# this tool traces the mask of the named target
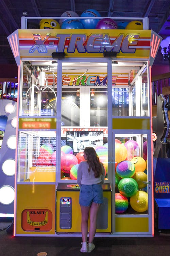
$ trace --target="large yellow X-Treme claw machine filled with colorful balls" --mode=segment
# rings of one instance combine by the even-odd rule
[[[69,18],[50,30],[27,29],[27,19],[8,37],[20,84],[14,235],[81,236],[77,168],[92,146],[105,167],[97,235],[153,236],[151,66],[161,38],[147,18],[120,29]]]

